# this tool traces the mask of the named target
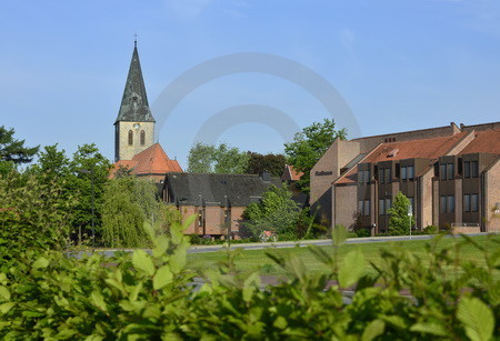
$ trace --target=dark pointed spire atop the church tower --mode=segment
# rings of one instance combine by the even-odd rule
[[[146,94],[137,43],[133,48],[132,60],[130,61],[120,111],[114,123],[119,121],[154,122],[154,118],[149,109],[148,96]]]

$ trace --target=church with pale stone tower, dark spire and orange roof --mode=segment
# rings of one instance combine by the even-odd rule
[[[157,182],[162,182],[168,172],[182,172],[179,162],[170,160],[160,143],[154,142],[154,124],[134,41],[129,74],[114,121],[114,169],[111,177],[121,167]]]

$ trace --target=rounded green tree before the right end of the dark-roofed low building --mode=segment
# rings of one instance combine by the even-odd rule
[[[253,237],[264,230],[294,234],[300,210],[291,198],[292,193],[287,187],[271,185],[259,202],[251,203],[244,210],[246,228]]]

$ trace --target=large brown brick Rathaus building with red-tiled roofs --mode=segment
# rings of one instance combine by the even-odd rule
[[[388,229],[401,191],[416,227],[500,231],[500,122],[337,140],[311,170],[313,211],[332,225]]]

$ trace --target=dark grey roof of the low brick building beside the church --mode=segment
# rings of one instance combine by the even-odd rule
[[[173,195],[171,201],[180,205],[248,207],[271,184],[280,187],[280,179],[263,181],[257,174],[168,173],[164,180],[164,188]]]

